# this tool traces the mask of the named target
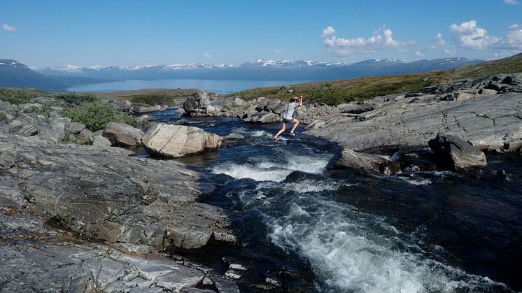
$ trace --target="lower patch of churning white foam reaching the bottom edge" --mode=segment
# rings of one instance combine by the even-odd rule
[[[389,235],[400,233],[395,227],[325,199],[292,203],[286,215],[267,224],[271,242],[309,259],[332,292],[453,292],[503,286],[425,258],[421,251],[399,250],[396,247],[416,245],[399,245],[404,244],[400,238]],[[376,229],[379,226],[384,229]]]

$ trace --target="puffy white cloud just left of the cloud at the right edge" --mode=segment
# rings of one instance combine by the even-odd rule
[[[475,20],[451,24],[450,29],[456,45],[462,48],[486,50],[502,41],[502,38],[488,36],[488,31],[482,27],[477,27]]]

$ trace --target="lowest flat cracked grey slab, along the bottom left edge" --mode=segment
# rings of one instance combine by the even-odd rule
[[[201,285],[208,275],[163,255],[41,241],[0,245],[0,271],[3,292],[179,292]]]

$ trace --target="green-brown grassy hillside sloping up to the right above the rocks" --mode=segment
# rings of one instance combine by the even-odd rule
[[[291,94],[287,93],[288,89],[286,88],[260,87],[234,94],[227,94],[225,97],[241,96],[244,99],[254,99],[257,97],[288,99],[289,97],[302,94],[309,101],[337,104],[346,101],[371,99],[386,94],[420,90],[430,85],[449,83],[465,78],[481,78],[515,72],[522,72],[522,53],[505,59],[442,71],[301,83],[290,87],[294,90]]]

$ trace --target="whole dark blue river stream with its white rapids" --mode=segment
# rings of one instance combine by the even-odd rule
[[[153,115],[178,119],[174,111]],[[519,156],[488,155],[487,169],[465,175],[360,176],[327,169],[338,152],[332,143],[304,135],[271,143],[278,125],[186,124],[249,141],[183,159],[216,184],[206,202],[229,211],[243,243],[199,261],[223,272],[222,257],[250,266],[243,291],[266,278],[282,291],[522,290]],[[493,175],[499,169],[507,179]]]

